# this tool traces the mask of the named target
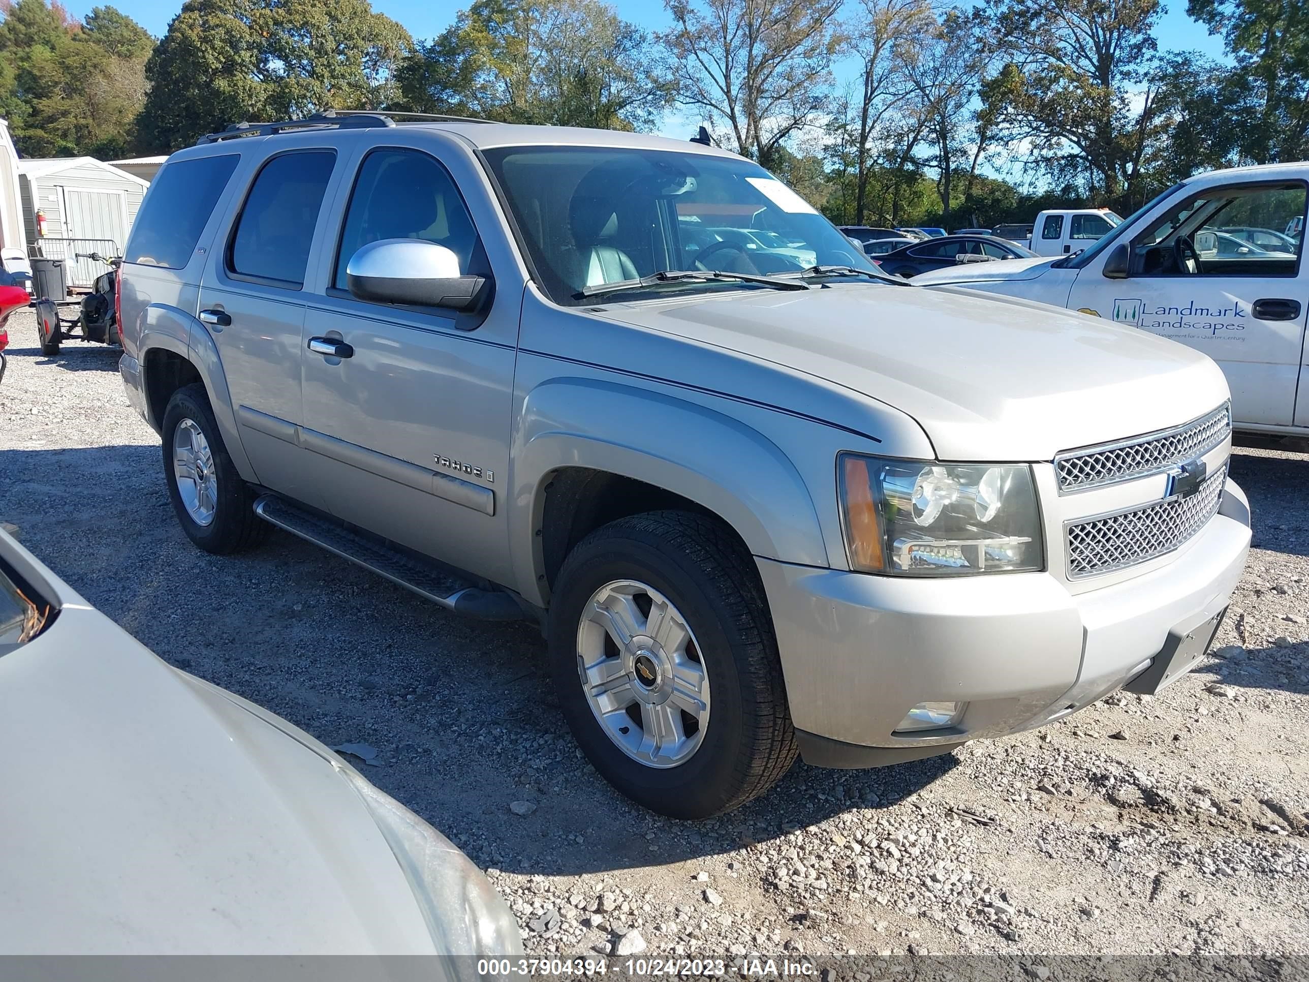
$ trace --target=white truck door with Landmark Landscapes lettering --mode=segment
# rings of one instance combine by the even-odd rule
[[[1291,426],[1301,374],[1309,271],[1225,227],[1282,229],[1304,215],[1299,182],[1234,182],[1186,195],[1131,240],[1127,279],[1081,270],[1068,306],[1178,340],[1223,368],[1237,424]]]

